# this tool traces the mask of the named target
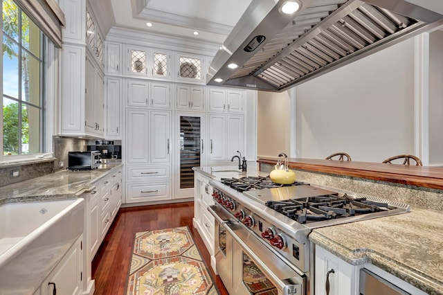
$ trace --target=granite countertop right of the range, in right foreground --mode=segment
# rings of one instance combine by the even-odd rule
[[[309,240],[351,265],[369,262],[428,294],[443,294],[443,213],[410,213],[314,229]]]

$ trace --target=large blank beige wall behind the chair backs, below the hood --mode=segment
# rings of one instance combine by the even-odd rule
[[[296,87],[297,157],[413,154],[413,61],[408,39]]]

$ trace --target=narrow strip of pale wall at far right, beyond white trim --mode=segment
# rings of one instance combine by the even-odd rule
[[[429,165],[443,166],[443,32],[429,35]]]

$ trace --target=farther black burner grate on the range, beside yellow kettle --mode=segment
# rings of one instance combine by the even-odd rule
[[[305,184],[301,181],[296,181],[293,184],[275,184],[269,177],[242,177],[242,178],[221,178],[222,184],[230,186],[231,188],[244,192],[246,190],[261,190],[262,188],[280,188],[282,186],[300,186]]]

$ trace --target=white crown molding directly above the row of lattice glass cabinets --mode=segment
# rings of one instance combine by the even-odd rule
[[[183,39],[152,33],[145,33],[126,28],[111,28],[106,36],[108,42],[118,42],[122,44],[134,44],[136,46],[146,46],[149,48],[159,48],[170,51],[184,51],[197,55],[214,56],[219,50],[220,44],[201,42],[195,39]]]

